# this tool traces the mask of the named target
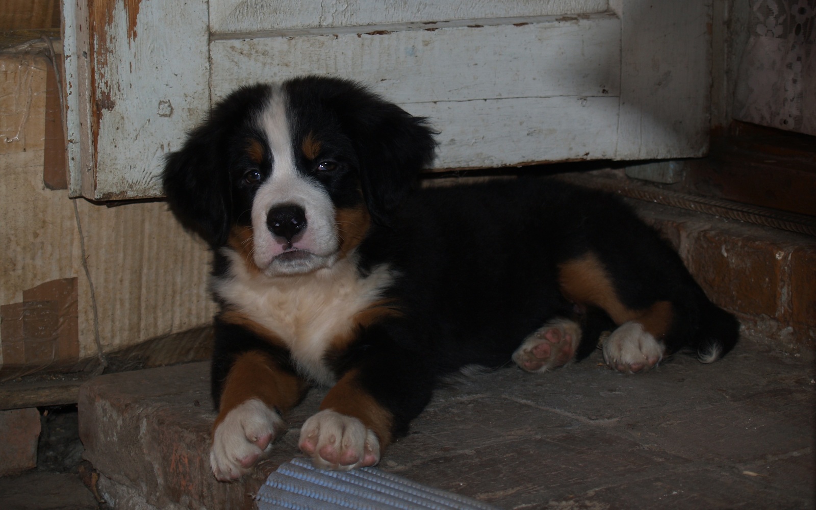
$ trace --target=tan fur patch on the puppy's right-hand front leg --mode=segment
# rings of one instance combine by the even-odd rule
[[[379,447],[384,450],[391,443],[393,416],[390,411],[380,406],[374,397],[362,389],[357,381],[359,370],[349,370],[334,388],[331,388],[323,399],[321,410],[334,410],[342,415],[359,419],[366,428],[373,430],[379,437]]]

